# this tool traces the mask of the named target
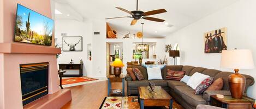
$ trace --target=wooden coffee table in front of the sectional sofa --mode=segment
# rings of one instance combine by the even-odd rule
[[[150,87],[138,87],[141,109],[144,109],[144,106],[169,106],[172,108],[172,97],[161,86],[156,86],[154,92],[148,88]]]

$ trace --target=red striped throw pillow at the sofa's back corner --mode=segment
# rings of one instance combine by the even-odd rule
[[[174,71],[174,70],[167,69],[167,74],[165,76],[165,79],[180,81],[184,75],[185,75],[185,71]]]

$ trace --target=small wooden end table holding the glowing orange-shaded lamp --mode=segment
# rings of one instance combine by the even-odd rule
[[[124,75],[120,75],[119,77],[116,77],[115,75],[108,75],[108,96],[111,97],[124,97]],[[111,88],[111,83],[112,82],[122,82],[122,92],[121,93],[113,93],[112,91],[114,91],[115,89]]]

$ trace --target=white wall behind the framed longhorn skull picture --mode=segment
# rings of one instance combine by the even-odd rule
[[[84,61],[83,75],[92,75],[92,62],[87,60],[87,44],[92,43],[92,22],[57,19],[55,27],[56,43],[58,44],[62,44],[61,33],[67,33],[67,36],[82,36],[82,52],[62,52],[57,62],[69,63],[73,59],[74,63],[79,63],[82,59]]]

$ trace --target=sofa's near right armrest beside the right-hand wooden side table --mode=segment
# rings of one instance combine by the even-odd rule
[[[216,94],[231,95],[230,91],[205,91],[203,94],[203,98],[206,101],[210,101],[210,96]]]

